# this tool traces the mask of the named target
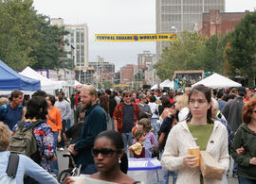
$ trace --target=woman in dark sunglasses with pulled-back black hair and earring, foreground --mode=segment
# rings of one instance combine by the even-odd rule
[[[91,150],[99,172],[91,176],[82,176],[85,183],[97,184],[134,184],[140,183],[127,176],[128,159],[124,152],[121,135],[114,131],[103,131],[97,136]],[[75,177],[68,177],[65,184],[74,182]]]

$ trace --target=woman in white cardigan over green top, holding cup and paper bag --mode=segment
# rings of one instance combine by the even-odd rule
[[[225,169],[229,168],[228,131],[225,125],[211,119],[211,92],[204,85],[197,85],[189,95],[188,119],[174,125],[171,130],[161,164],[167,170],[179,170],[177,184],[219,184],[221,180],[203,178],[197,159],[188,154],[188,149],[199,146],[206,150]],[[203,182],[204,180],[204,182]]]

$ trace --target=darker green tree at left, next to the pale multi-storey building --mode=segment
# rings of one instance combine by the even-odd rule
[[[50,25],[49,18],[38,15],[39,24],[37,29],[40,35],[33,38],[38,44],[32,47],[30,58],[36,62],[31,66],[34,69],[58,69],[72,68],[72,59],[66,59],[67,52],[64,51],[64,36],[69,32],[64,27]]]

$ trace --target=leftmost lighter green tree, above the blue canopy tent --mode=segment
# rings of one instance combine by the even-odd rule
[[[0,59],[14,70],[22,70],[34,63],[28,54],[37,41],[36,11],[32,9],[32,0],[0,1]]]

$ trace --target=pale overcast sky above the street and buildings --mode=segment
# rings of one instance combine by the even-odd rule
[[[64,24],[87,24],[89,61],[100,55],[116,65],[137,64],[137,54],[151,51],[155,42],[95,42],[95,34],[155,33],[155,0],[34,0],[39,13],[64,18]],[[256,0],[226,0],[226,11],[253,11]]]

